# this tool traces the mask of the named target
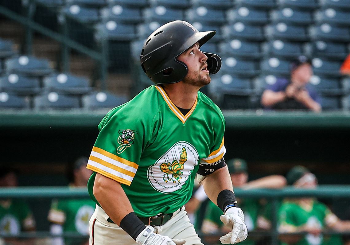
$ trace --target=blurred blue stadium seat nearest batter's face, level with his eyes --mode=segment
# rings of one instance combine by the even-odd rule
[[[219,45],[222,54],[229,54],[233,57],[241,58],[260,58],[262,56],[259,42],[248,42],[244,40],[233,39],[223,42]]]

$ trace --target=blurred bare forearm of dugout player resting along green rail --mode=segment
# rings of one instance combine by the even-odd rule
[[[250,181],[244,185],[244,189],[271,188],[278,189],[287,185],[287,180],[282,175],[270,175]]]

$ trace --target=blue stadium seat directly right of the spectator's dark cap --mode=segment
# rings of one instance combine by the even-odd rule
[[[312,66],[314,73],[320,76],[340,76],[340,66],[341,62],[339,61],[327,61],[321,58],[313,58]]]

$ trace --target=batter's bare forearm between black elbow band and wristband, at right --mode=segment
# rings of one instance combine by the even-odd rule
[[[216,170],[202,181],[205,193],[217,205],[218,194],[222,190],[233,192],[232,181],[227,166]]]

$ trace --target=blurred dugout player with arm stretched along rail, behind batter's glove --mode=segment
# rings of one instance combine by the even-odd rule
[[[248,172],[247,163],[243,159],[231,159],[227,163],[229,168],[229,173],[231,175],[231,180],[233,187],[242,189],[254,189],[254,188],[283,188],[286,186],[287,181],[285,177],[280,175],[270,175],[262,177],[257,180],[248,182]],[[201,192],[201,189],[198,189]],[[197,194],[198,195],[198,194]],[[196,199],[196,194],[193,199]],[[237,199],[238,206],[244,208],[245,215],[244,221],[247,225],[248,231],[252,231],[256,228],[260,229],[270,229],[271,224],[265,220],[259,218],[259,210],[261,209],[261,200],[251,199],[251,198],[239,198]],[[203,214],[199,214],[203,215]],[[204,212],[203,224],[201,231],[204,234],[213,233],[225,233],[227,228],[220,221],[220,216],[222,215],[222,210],[219,209],[211,201],[208,202],[207,207]],[[198,229],[198,228],[197,228]],[[255,244],[254,241],[249,238],[241,242],[242,244]]]

